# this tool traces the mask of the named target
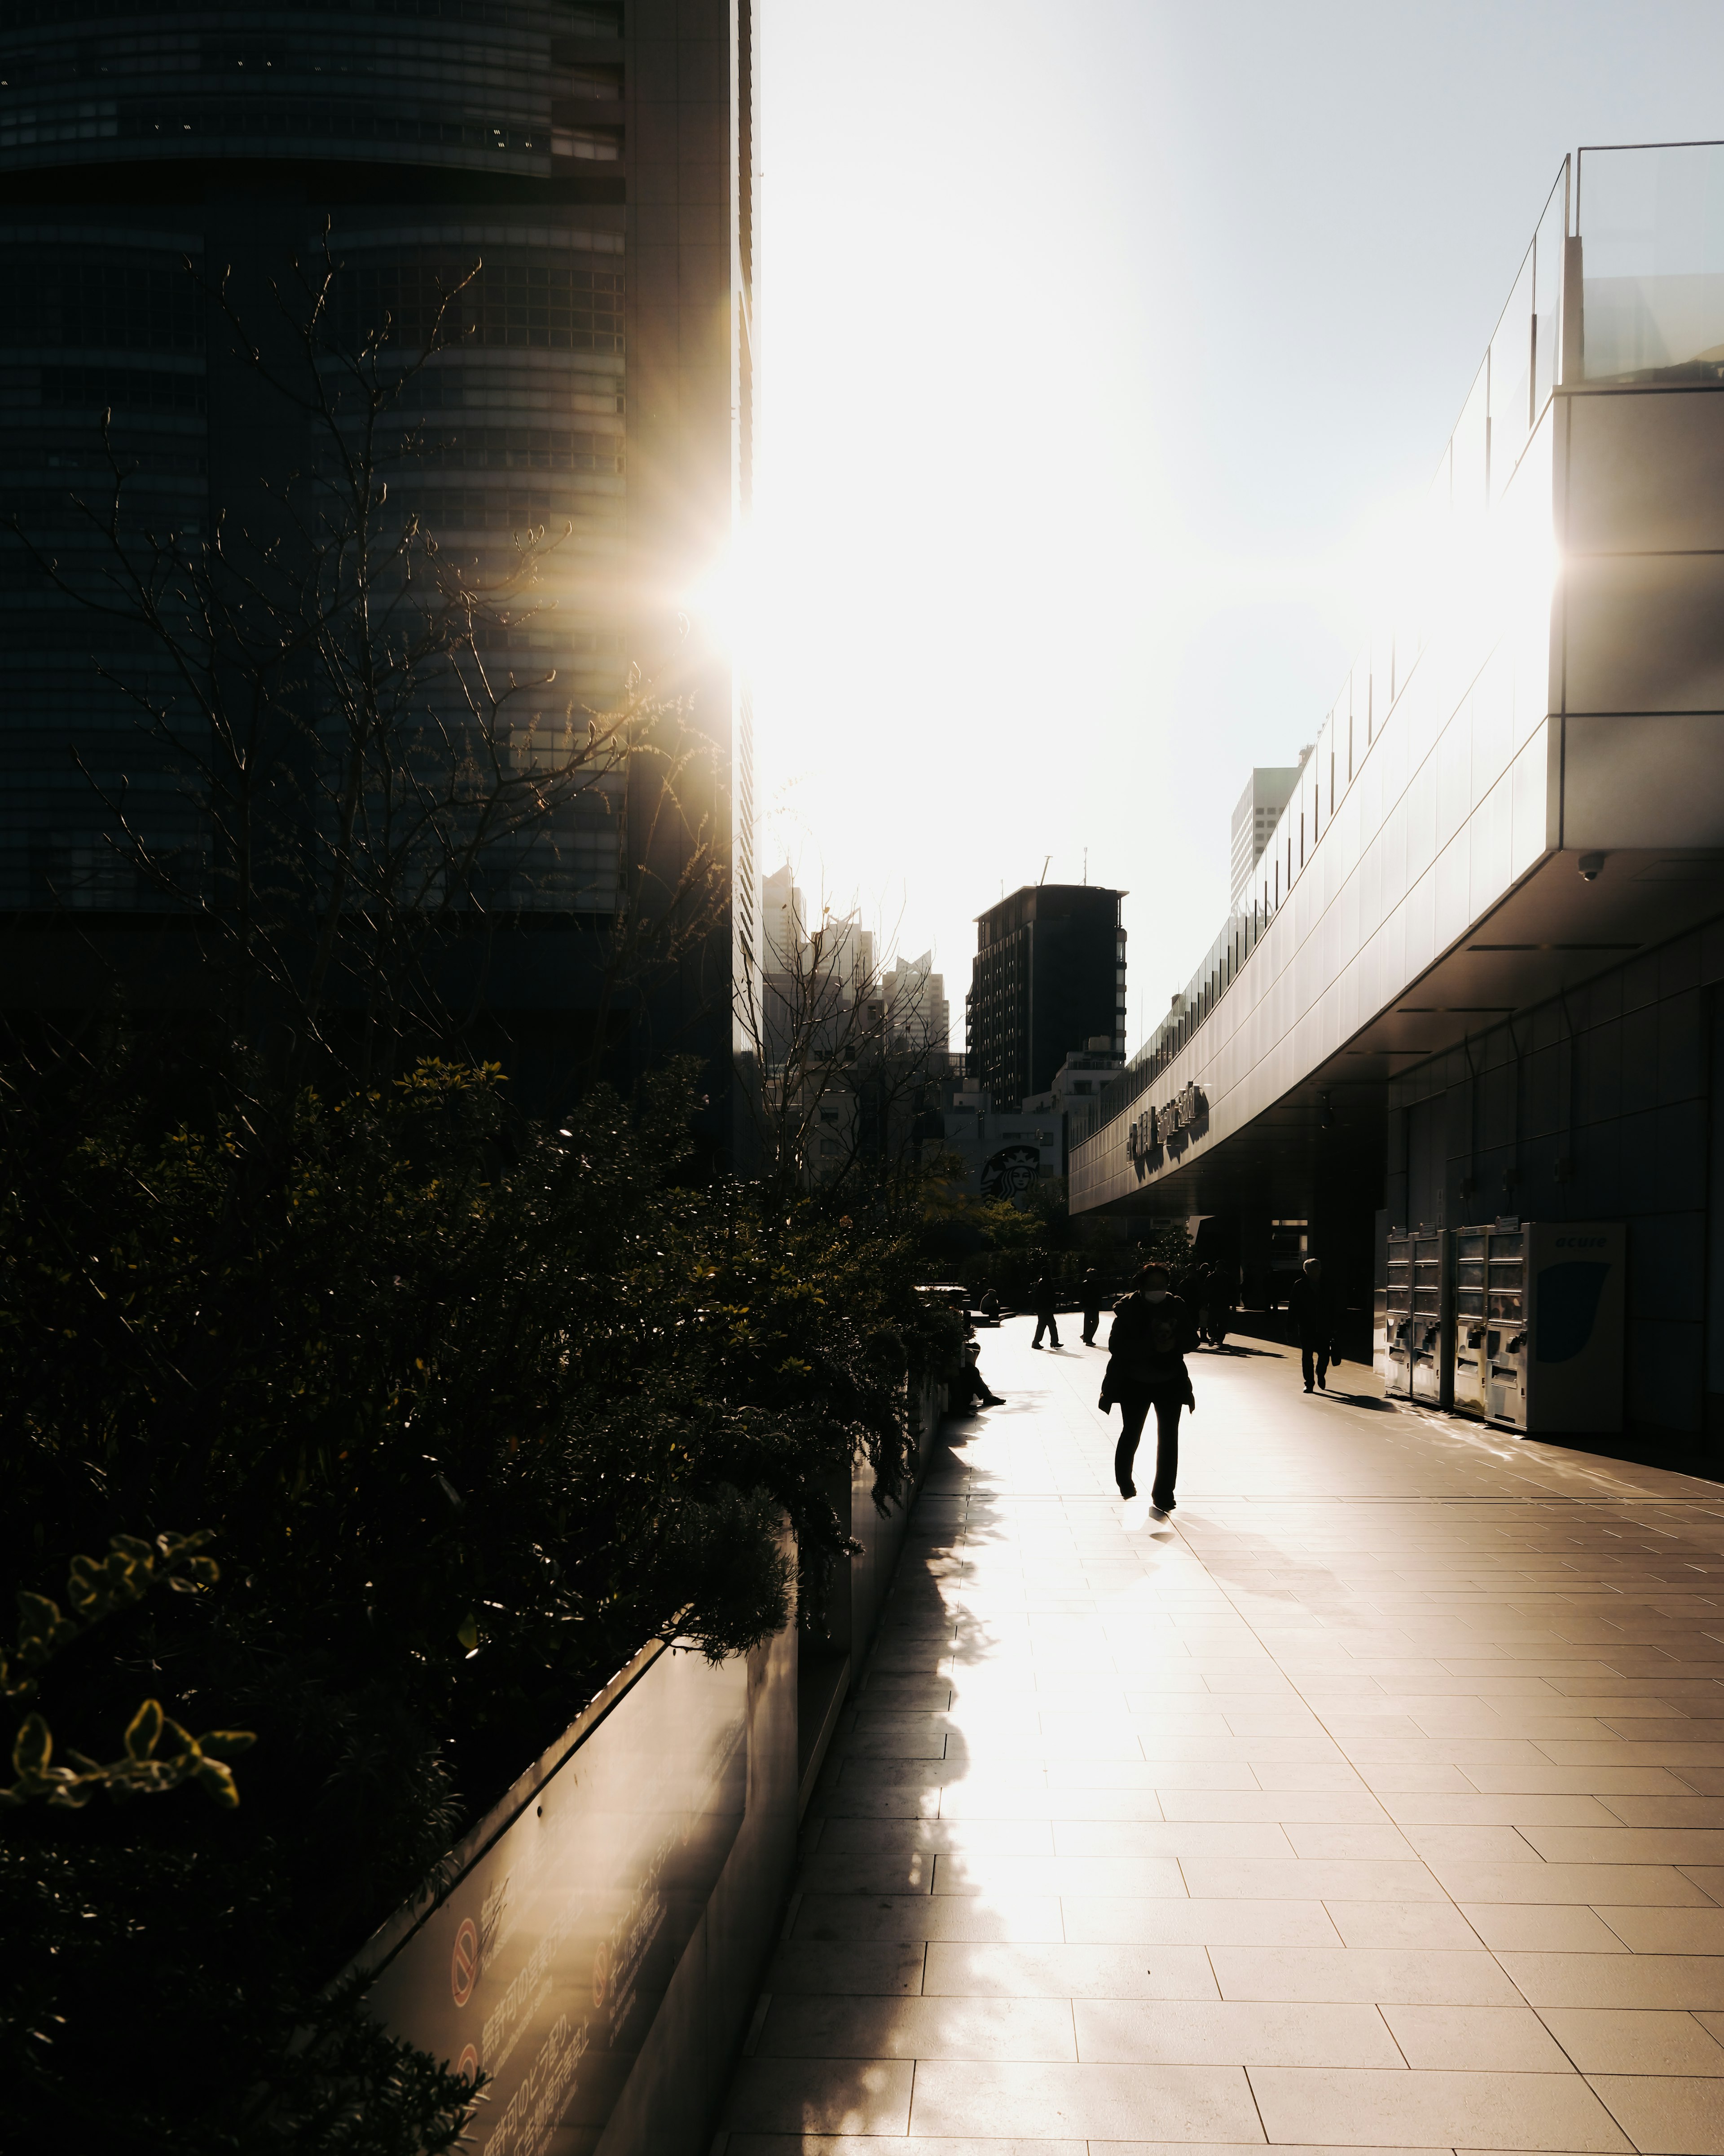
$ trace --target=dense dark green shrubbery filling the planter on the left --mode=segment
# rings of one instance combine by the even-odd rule
[[[187,1772],[0,1815],[19,2132],[453,2145],[465,2085],[330,1975],[646,1639],[776,1632],[782,1522],[840,1552],[858,1447],[903,1490],[905,1363],[953,1352],[914,1240],[683,1181],[687,1087],[552,1130],[442,1063],[332,1100],[209,1044],[11,1069],[4,1585],[69,1608],[75,1559],[194,1531],[220,1574],[15,1705],[56,1757],[256,1740],[233,1807]]]

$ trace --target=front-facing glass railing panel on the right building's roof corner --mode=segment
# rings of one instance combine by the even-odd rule
[[[1584,149],[1586,382],[1724,382],[1724,142]]]

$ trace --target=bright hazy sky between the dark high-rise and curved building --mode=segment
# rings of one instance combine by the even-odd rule
[[[1129,1046],[1368,640],[1562,157],[1724,136],[1718,0],[769,0],[761,869],[946,975],[1129,893]]]

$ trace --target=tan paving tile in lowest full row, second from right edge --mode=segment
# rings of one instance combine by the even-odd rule
[[[1580,2074],[1259,2065],[1250,2078],[1269,2141],[1455,2150],[1631,2145]]]

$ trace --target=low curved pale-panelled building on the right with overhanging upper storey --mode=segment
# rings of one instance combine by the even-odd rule
[[[1073,1210],[1627,1225],[1627,1425],[1724,1436],[1724,144],[1565,162],[1416,565]],[[1504,1341],[1506,1348],[1506,1341]]]

